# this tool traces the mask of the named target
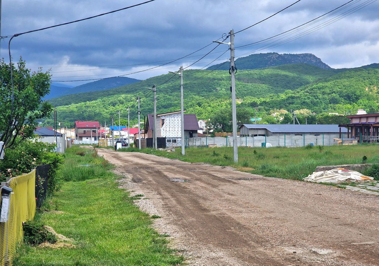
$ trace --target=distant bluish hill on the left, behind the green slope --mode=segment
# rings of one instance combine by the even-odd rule
[[[117,78],[108,78],[100,79],[98,81],[89,82],[86,84],[79,85],[77,87],[63,87],[56,86],[55,84],[50,85],[50,93],[47,95],[44,100],[49,100],[52,98],[69,95],[73,93],[83,93],[83,92],[95,92],[99,90],[107,90],[127,84],[132,84],[140,81],[139,79],[127,78],[127,77],[117,77]]]

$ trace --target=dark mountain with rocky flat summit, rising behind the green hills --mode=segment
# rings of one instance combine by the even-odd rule
[[[329,65],[325,64],[321,59],[314,54],[278,54],[278,53],[261,53],[251,54],[246,57],[241,57],[235,60],[235,65],[238,70],[242,69],[258,69],[266,67],[275,67],[277,65],[286,64],[309,64],[323,69],[330,69]],[[207,70],[229,70],[229,64],[217,64],[207,68]]]

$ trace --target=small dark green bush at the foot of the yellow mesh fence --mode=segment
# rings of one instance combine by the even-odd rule
[[[56,243],[58,238],[49,232],[46,227],[37,221],[27,221],[22,224],[24,242],[30,245],[39,245],[45,242]]]

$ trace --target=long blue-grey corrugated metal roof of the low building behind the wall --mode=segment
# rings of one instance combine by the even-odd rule
[[[294,125],[294,124],[241,124],[249,129],[267,129],[273,133],[339,133],[338,125]],[[341,128],[341,132],[348,132],[347,128]]]

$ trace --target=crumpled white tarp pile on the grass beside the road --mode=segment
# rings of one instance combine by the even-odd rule
[[[325,182],[325,183],[342,183],[342,182],[359,182],[364,180],[374,180],[373,177],[365,176],[357,171],[350,171],[343,168],[336,168],[327,171],[313,172],[305,181]]]

